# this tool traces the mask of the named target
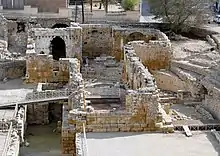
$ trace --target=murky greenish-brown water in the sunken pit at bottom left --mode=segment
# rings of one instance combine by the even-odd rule
[[[21,147],[20,156],[60,156],[60,133],[56,124],[28,126],[26,139],[30,145]]]

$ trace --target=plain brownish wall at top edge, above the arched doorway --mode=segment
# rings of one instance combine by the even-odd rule
[[[59,8],[66,8],[67,0],[26,0],[25,5],[38,7],[39,12],[58,12]]]

